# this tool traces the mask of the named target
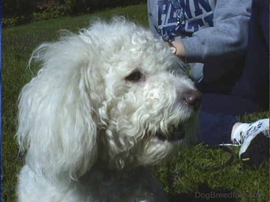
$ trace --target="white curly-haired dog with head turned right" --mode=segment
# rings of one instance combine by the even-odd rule
[[[145,28],[114,18],[40,45],[19,98],[19,202],[164,202],[153,165],[192,141],[201,93]],[[185,138],[184,138],[185,137]]]

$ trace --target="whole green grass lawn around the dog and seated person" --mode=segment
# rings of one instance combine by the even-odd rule
[[[18,155],[14,135],[19,92],[37,72],[35,67],[31,68],[33,74],[27,68],[32,50],[42,42],[57,40],[60,29],[76,32],[87,26],[93,18],[109,19],[115,15],[123,15],[145,27],[148,26],[147,7],[143,4],[79,17],[34,22],[2,30],[1,192],[3,202],[15,201],[17,173],[23,164],[23,157]],[[249,122],[268,116],[269,112],[262,112],[247,114],[240,119]],[[165,192],[175,196],[175,201],[181,199],[185,202],[192,200],[269,201],[269,166],[246,168],[238,159],[239,147],[232,147],[232,150],[234,160],[230,165],[218,171],[204,172],[198,167],[221,165],[230,158],[230,155],[223,150],[207,150],[203,145],[187,147],[170,162],[158,166],[156,174],[162,181]],[[214,193],[221,195],[215,195],[215,199],[208,200],[207,193],[212,193],[212,196]],[[232,193],[234,198],[229,195]]]

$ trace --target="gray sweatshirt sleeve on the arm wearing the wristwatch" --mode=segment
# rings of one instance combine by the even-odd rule
[[[188,63],[224,61],[245,54],[251,0],[216,0],[213,27],[181,39]]]

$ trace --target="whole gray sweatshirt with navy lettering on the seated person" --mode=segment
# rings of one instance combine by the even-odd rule
[[[251,1],[147,0],[149,27],[165,41],[182,41],[191,78],[199,82],[204,64],[216,63],[211,71],[218,77],[232,68],[226,61],[245,55]]]

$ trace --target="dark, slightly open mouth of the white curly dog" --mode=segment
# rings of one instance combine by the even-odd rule
[[[158,139],[162,141],[169,141],[169,142],[175,142],[184,139],[185,137],[185,131],[182,125],[178,125],[178,127],[171,127],[169,130],[169,135],[163,134],[161,131],[156,133],[156,136]]]

